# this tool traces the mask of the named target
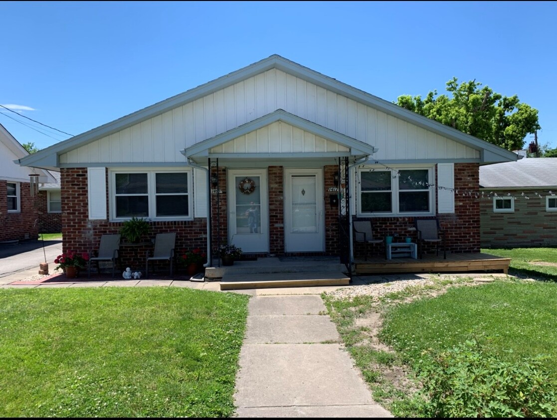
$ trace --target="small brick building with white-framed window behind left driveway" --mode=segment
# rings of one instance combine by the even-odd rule
[[[43,183],[39,187],[38,219],[42,233],[62,232],[62,193],[60,172],[51,172],[55,182]]]

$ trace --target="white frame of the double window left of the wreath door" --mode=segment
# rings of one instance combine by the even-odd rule
[[[157,173],[187,173],[188,174],[188,216],[187,217],[157,217],[157,196],[164,194],[156,194],[155,191],[155,174]],[[118,173],[146,173],[147,174],[147,196],[149,197],[149,216],[146,219],[152,221],[187,221],[193,220],[193,171],[191,168],[118,168],[109,170],[109,208],[110,208],[110,221],[123,222],[129,220],[130,217],[116,217],[116,174]],[[140,194],[131,194],[140,195]],[[172,194],[179,195],[179,194]]]

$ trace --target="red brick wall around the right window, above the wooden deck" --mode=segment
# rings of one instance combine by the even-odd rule
[[[480,252],[479,166],[477,163],[455,163],[455,213],[438,214],[444,231],[446,248],[453,253]],[[466,193],[466,194],[465,194]],[[437,194],[436,194],[437,197]],[[437,203],[436,203],[437,207]],[[366,219],[366,218],[360,218]],[[417,241],[414,217],[374,217],[375,234],[384,238],[388,233],[411,237]],[[433,248],[424,248],[431,252]]]

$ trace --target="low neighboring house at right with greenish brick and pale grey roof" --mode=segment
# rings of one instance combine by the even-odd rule
[[[557,246],[557,158],[480,167],[482,248]]]

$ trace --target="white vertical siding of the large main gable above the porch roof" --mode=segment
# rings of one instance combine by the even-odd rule
[[[479,152],[277,69],[60,156],[68,163],[184,162],[180,150],[285,109],[379,148],[374,158],[471,159]],[[299,134],[292,133],[293,138]],[[247,147],[248,136],[246,136]],[[250,139],[253,141],[253,139]],[[281,143],[282,144],[282,143]],[[258,144],[259,147],[259,144]]]

